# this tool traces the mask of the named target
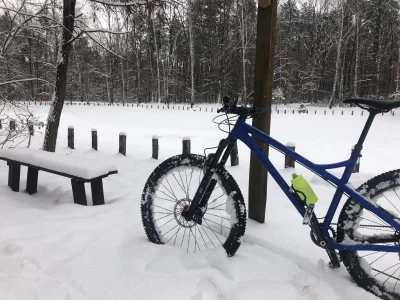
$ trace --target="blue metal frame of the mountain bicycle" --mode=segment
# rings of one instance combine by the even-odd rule
[[[373,212],[375,215],[379,216],[383,221],[390,224],[398,231],[400,231],[400,223],[395,220],[395,216],[389,214],[386,210],[380,208],[372,201],[364,198],[361,194],[355,191],[351,186],[348,185],[352,170],[357,162],[358,155],[354,152],[351,154],[350,159],[334,164],[315,164],[288,147],[284,146],[277,140],[266,135],[262,131],[252,127],[247,124],[245,120],[238,120],[236,125],[233,127],[229,137],[233,140],[241,140],[245,143],[254,155],[260,160],[260,162],[267,168],[268,172],[280,186],[282,191],[286,194],[292,204],[296,207],[297,211],[301,216],[304,216],[306,208],[302,203],[300,203],[295,194],[292,192],[290,186],[286,183],[283,177],[279,174],[277,169],[274,167],[272,162],[268,159],[265,153],[262,151],[260,146],[254,141],[254,139],[260,140],[263,143],[271,146],[272,148],[280,151],[281,153],[289,156],[293,160],[297,161],[299,164],[303,165],[307,169],[311,170],[318,176],[322,177],[324,180],[331,182],[337,187],[335,195],[329,206],[328,212],[326,214],[325,220],[322,225],[323,234],[327,238],[327,247],[335,248],[337,250],[364,250],[364,251],[387,251],[387,252],[400,252],[400,246],[385,246],[385,245],[374,245],[374,244],[338,244],[329,238],[328,229],[332,223],[334,214],[338,208],[340,200],[343,194],[348,195],[354,201],[361,204],[364,208]],[[328,169],[345,168],[342,178],[337,178],[336,176],[329,173]]]

